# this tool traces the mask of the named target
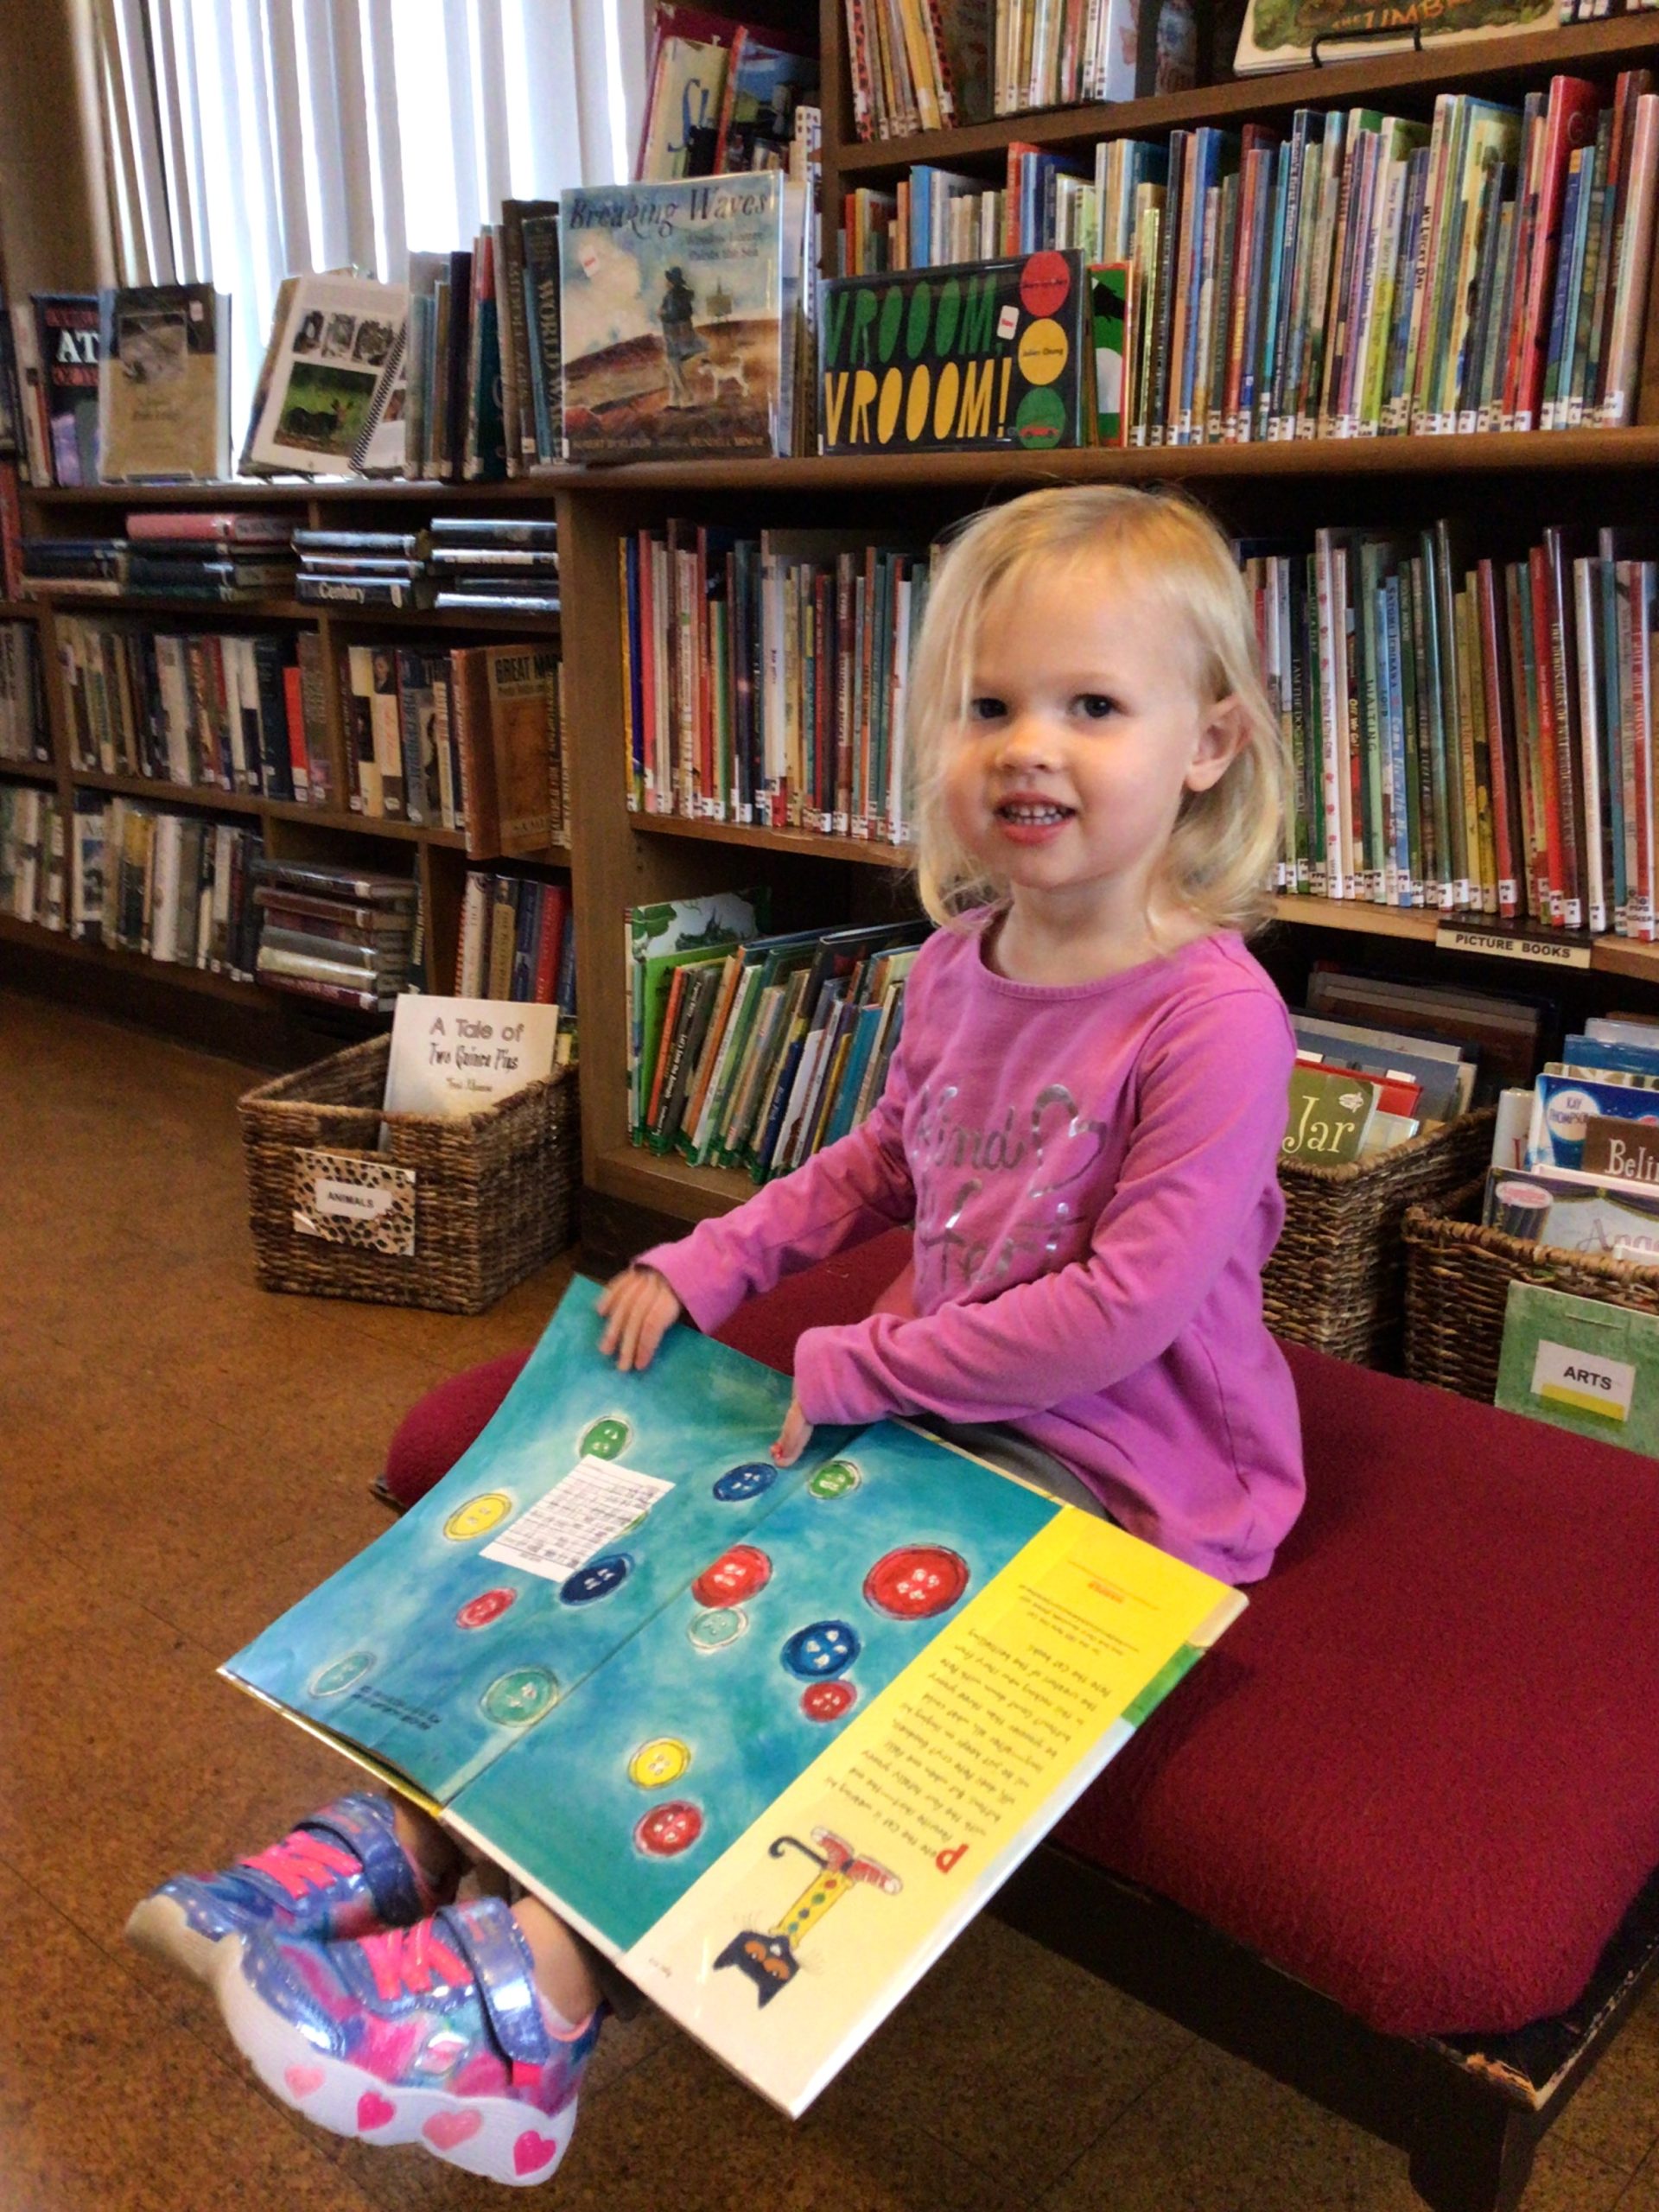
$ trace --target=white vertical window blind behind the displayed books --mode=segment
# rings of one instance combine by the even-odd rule
[[[276,285],[469,246],[628,175],[641,0],[95,0],[122,283],[232,299],[232,422]]]

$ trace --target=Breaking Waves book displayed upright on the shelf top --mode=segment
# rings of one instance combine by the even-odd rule
[[[571,460],[792,449],[803,212],[779,170],[562,197]]]

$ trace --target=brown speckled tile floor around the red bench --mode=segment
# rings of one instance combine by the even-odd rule
[[[526,1343],[252,1287],[246,1068],[0,991],[0,2212],[462,2212],[418,2150],[312,2132],[195,1986],[122,1944],[177,1867],[345,1781],[217,1663],[383,1526],[403,1409]],[[1659,2004],[1526,2212],[1659,2212]],[[993,1920],[799,2126],[681,2035],[611,2028],[566,2212],[1411,2212],[1405,2159]]]

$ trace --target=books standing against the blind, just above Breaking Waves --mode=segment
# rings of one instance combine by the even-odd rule
[[[816,42],[659,0],[635,181],[785,168],[796,111],[816,100]]]

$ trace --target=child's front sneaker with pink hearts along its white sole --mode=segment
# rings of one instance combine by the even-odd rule
[[[363,1942],[254,1931],[223,1947],[219,2011],[259,2079],[365,2143],[420,2143],[489,2181],[546,2181],[575,2128],[599,2013],[560,2024],[500,1898]]]

